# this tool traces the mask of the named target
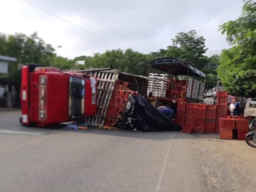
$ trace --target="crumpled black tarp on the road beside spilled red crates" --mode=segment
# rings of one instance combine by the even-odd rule
[[[180,131],[180,125],[172,122],[165,114],[151,105],[140,94],[134,96],[131,116],[123,117],[116,126],[125,130],[137,131]]]

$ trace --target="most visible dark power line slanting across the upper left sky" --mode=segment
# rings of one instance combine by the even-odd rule
[[[87,33],[89,33],[89,34],[91,34],[91,35],[93,35],[93,36],[95,36],[95,37],[98,37],[98,38],[100,38],[100,39],[102,39],[102,40],[104,40],[104,41],[107,41],[108,43],[111,43],[111,44],[113,44],[113,45],[115,45],[115,46],[118,46],[118,47],[122,47],[122,46],[120,46],[120,45],[118,45],[118,44],[115,44],[115,43],[113,43],[113,42],[107,40],[107,39],[104,38],[104,37],[101,37],[101,36],[99,36],[99,35],[97,35],[97,34],[94,34],[94,33],[90,32],[90,31],[88,31],[87,29],[84,29],[83,27],[80,27],[80,26],[78,26],[78,25],[76,25],[76,24],[74,24],[74,23],[72,23],[72,22],[70,22],[70,21],[68,21],[68,20],[66,20],[66,19],[63,19],[63,18],[59,17],[58,15],[55,15],[55,14],[53,14],[53,13],[51,13],[51,12],[45,10],[45,9],[42,9],[42,8],[40,8],[40,7],[38,7],[38,6],[36,6],[36,5],[32,4],[32,3],[30,3],[30,2],[27,2],[26,0],[23,0],[23,2],[29,4],[29,5],[31,5],[31,6],[33,6],[33,7],[35,7],[35,8],[37,8],[37,9],[43,11],[43,12],[46,12],[46,13],[52,15],[53,17],[56,17],[56,18],[58,18],[59,20],[64,21],[65,23],[71,24],[71,25],[73,25],[73,26],[75,26],[75,27],[77,27],[77,28],[79,28],[79,29],[81,29],[81,30],[84,30],[85,32],[87,32]]]

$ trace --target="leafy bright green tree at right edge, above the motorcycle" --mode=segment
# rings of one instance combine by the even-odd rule
[[[237,20],[220,26],[233,47],[222,51],[217,72],[226,90],[234,95],[256,95],[255,13],[255,0],[247,0]]]

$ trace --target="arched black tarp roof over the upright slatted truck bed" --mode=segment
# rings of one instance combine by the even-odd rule
[[[152,60],[148,66],[172,75],[189,75],[206,78],[203,72],[192,67],[188,62],[175,57],[157,58]]]

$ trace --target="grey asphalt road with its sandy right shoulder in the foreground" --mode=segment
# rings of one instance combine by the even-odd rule
[[[255,149],[218,134],[23,127],[0,111],[0,191],[254,191]]]

